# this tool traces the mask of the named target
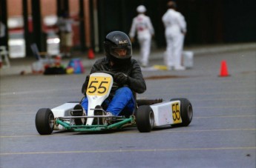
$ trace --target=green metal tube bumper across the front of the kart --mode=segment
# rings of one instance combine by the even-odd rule
[[[97,118],[103,118],[106,117],[105,115],[99,115],[96,116]],[[108,116],[110,117],[110,116]],[[112,116],[113,118],[116,116]],[[111,125],[70,125],[69,123],[62,121],[62,119],[68,120],[68,119],[72,119],[72,118],[76,118],[76,117],[60,117],[60,118],[56,118],[56,124],[60,124],[63,127],[65,127],[65,129],[67,130],[72,130],[75,132],[82,132],[82,131],[102,131],[102,130],[111,130],[114,128],[120,129],[122,127],[128,127],[131,125],[135,124],[134,121],[134,116],[131,115],[130,118],[125,118],[122,121],[116,122],[114,124]],[[81,118],[81,117],[77,117],[77,118]],[[89,118],[88,116],[83,117],[83,118]],[[90,118],[93,118],[93,116],[91,116]],[[95,118],[95,116],[94,116]],[[121,116],[117,116],[117,118],[122,118]]]

